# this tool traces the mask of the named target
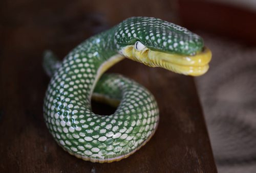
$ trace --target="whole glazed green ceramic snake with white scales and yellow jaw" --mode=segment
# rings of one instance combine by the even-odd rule
[[[44,118],[54,139],[71,155],[91,162],[118,161],[140,149],[156,131],[159,110],[154,96],[121,75],[102,75],[124,57],[199,76],[207,71],[211,52],[198,35],[152,17],[122,21],[82,42],[61,63],[46,52],[44,68],[52,79]],[[118,107],[112,115],[97,115],[91,98]]]

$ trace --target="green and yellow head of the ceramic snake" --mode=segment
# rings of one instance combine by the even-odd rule
[[[184,75],[203,75],[211,59],[200,36],[153,17],[122,21],[115,29],[114,43],[127,58]]]

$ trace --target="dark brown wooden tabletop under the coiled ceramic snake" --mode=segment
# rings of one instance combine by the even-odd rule
[[[124,60],[119,72],[148,88],[160,108],[153,138],[127,159],[90,163],[63,151],[47,130],[42,104],[49,78],[42,52],[74,46],[130,16],[177,22],[170,1],[0,2],[0,172],[216,172],[194,79]],[[114,108],[93,103],[95,112]]]

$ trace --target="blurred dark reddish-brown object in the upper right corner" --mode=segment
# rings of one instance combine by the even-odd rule
[[[256,12],[245,7],[201,0],[179,0],[183,26],[256,45]]]

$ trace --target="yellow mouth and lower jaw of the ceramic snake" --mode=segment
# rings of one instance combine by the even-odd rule
[[[189,76],[203,75],[209,69],[208,63],[211,60],[211,51],[207,47],[193,56],[153,51],[147,47],[138,51],[133,45],[123,47],[120,53],[145,65]]]

